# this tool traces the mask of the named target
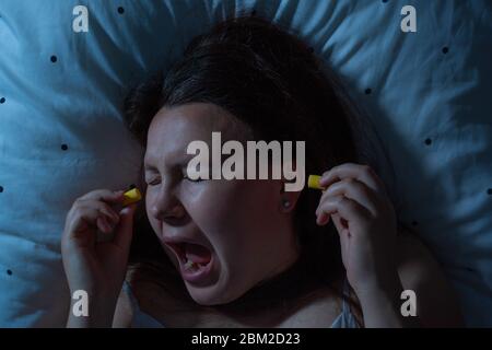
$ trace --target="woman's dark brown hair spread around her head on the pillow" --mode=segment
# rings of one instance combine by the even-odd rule
[[[161,107],[215,104],[250,127],[256,140],[306,141],[306,174],[320,174],[360,160],[354,109],[335,74],[323,67],[304,42],[278,25],[257,16],[231,19],[194,38],[165,77],[133,89],[126,100],[126,120],[145,147],[150,122]],[[227,307],[285,303],[321,288],[340,294],[344,269],[339,237],[331,221],[326,226],[315,222],[319,196],[305,189],[295,208],[302,246],[297,264]],[[136,235],[131,261],[164,256],[147,218],[140,225],[148,233]]]

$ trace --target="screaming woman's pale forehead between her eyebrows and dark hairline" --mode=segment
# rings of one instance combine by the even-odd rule
[[[236,129],[237,119],[225,109],[208,103],[194,103],[163,107],[149,127],[145,163],[155,162],[166,154],[186,155],[191,141],[211,143],[212,131]]]

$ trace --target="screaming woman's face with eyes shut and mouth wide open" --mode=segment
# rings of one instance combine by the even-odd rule
[[[186,178],[188,162],[196,156],[187,154],[188,144],[204,141],[211,158],[212,131],[221,131],[225,142],[238,138],[227,132],[237,125],[225,109],[194,103],[163,107],[148,133],[147,213],[191,298],[202,305],[231,302],[298,257],[293,211],[282,206],[285,196],[294,205],[298,194],[283,192],[282,180]],[[185,250],[204,265],[195,277],[183,273]]]

